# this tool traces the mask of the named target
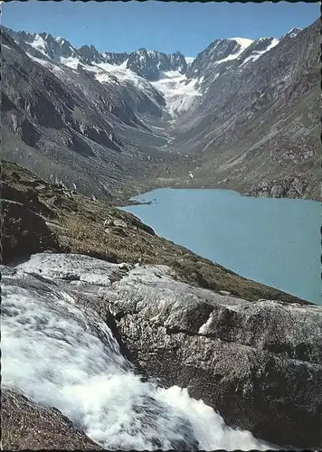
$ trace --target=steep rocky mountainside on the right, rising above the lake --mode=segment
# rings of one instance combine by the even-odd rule
[[[236,45],[232,59],[225,55],[233,40],[213,42],[197,56],[188,76],[204,75],[204,96],[182,124],[178,119],[173,142],[194,155],[190,186],[217,181],[222,188],[249,193],[253,187],[255,193],[263,179],[288,185],[298,178],[302,194],[268,194],[316,193],[320,199],[319,27],[317,21],[280,39],[260,38],[241,54]]]

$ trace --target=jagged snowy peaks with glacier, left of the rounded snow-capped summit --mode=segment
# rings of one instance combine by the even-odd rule
[[[68,72],[62,71],[62,66],[85,72],[101,84],[113,86],[118,96],[139,113],[169,114],[173,118],[200,95],[194,89],[196,80],[186,82],[187,63],[180,52],[167,55],[139,49],[101,53],[93,45],[74,48],[70,42],[48,33],[9,33],[33,61],[57,77],[66,80]]]

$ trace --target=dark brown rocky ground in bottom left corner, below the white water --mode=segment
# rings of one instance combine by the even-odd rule
[[[60,410],[7,388],[1,393],[1,430],[5,450],[102,450]]]

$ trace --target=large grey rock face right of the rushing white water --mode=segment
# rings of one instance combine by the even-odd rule
[[[91,294],[148,376],[186,387],[228,425],[279,447],[322,446],[320,306],[220,295],[166,266],[41,254],[19,269]]]

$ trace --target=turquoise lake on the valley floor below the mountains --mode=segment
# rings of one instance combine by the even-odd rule
[[[157,189],[134,213],[161,237],[245,278],[321,301],[321,205],[251,198],[229,190]]]

